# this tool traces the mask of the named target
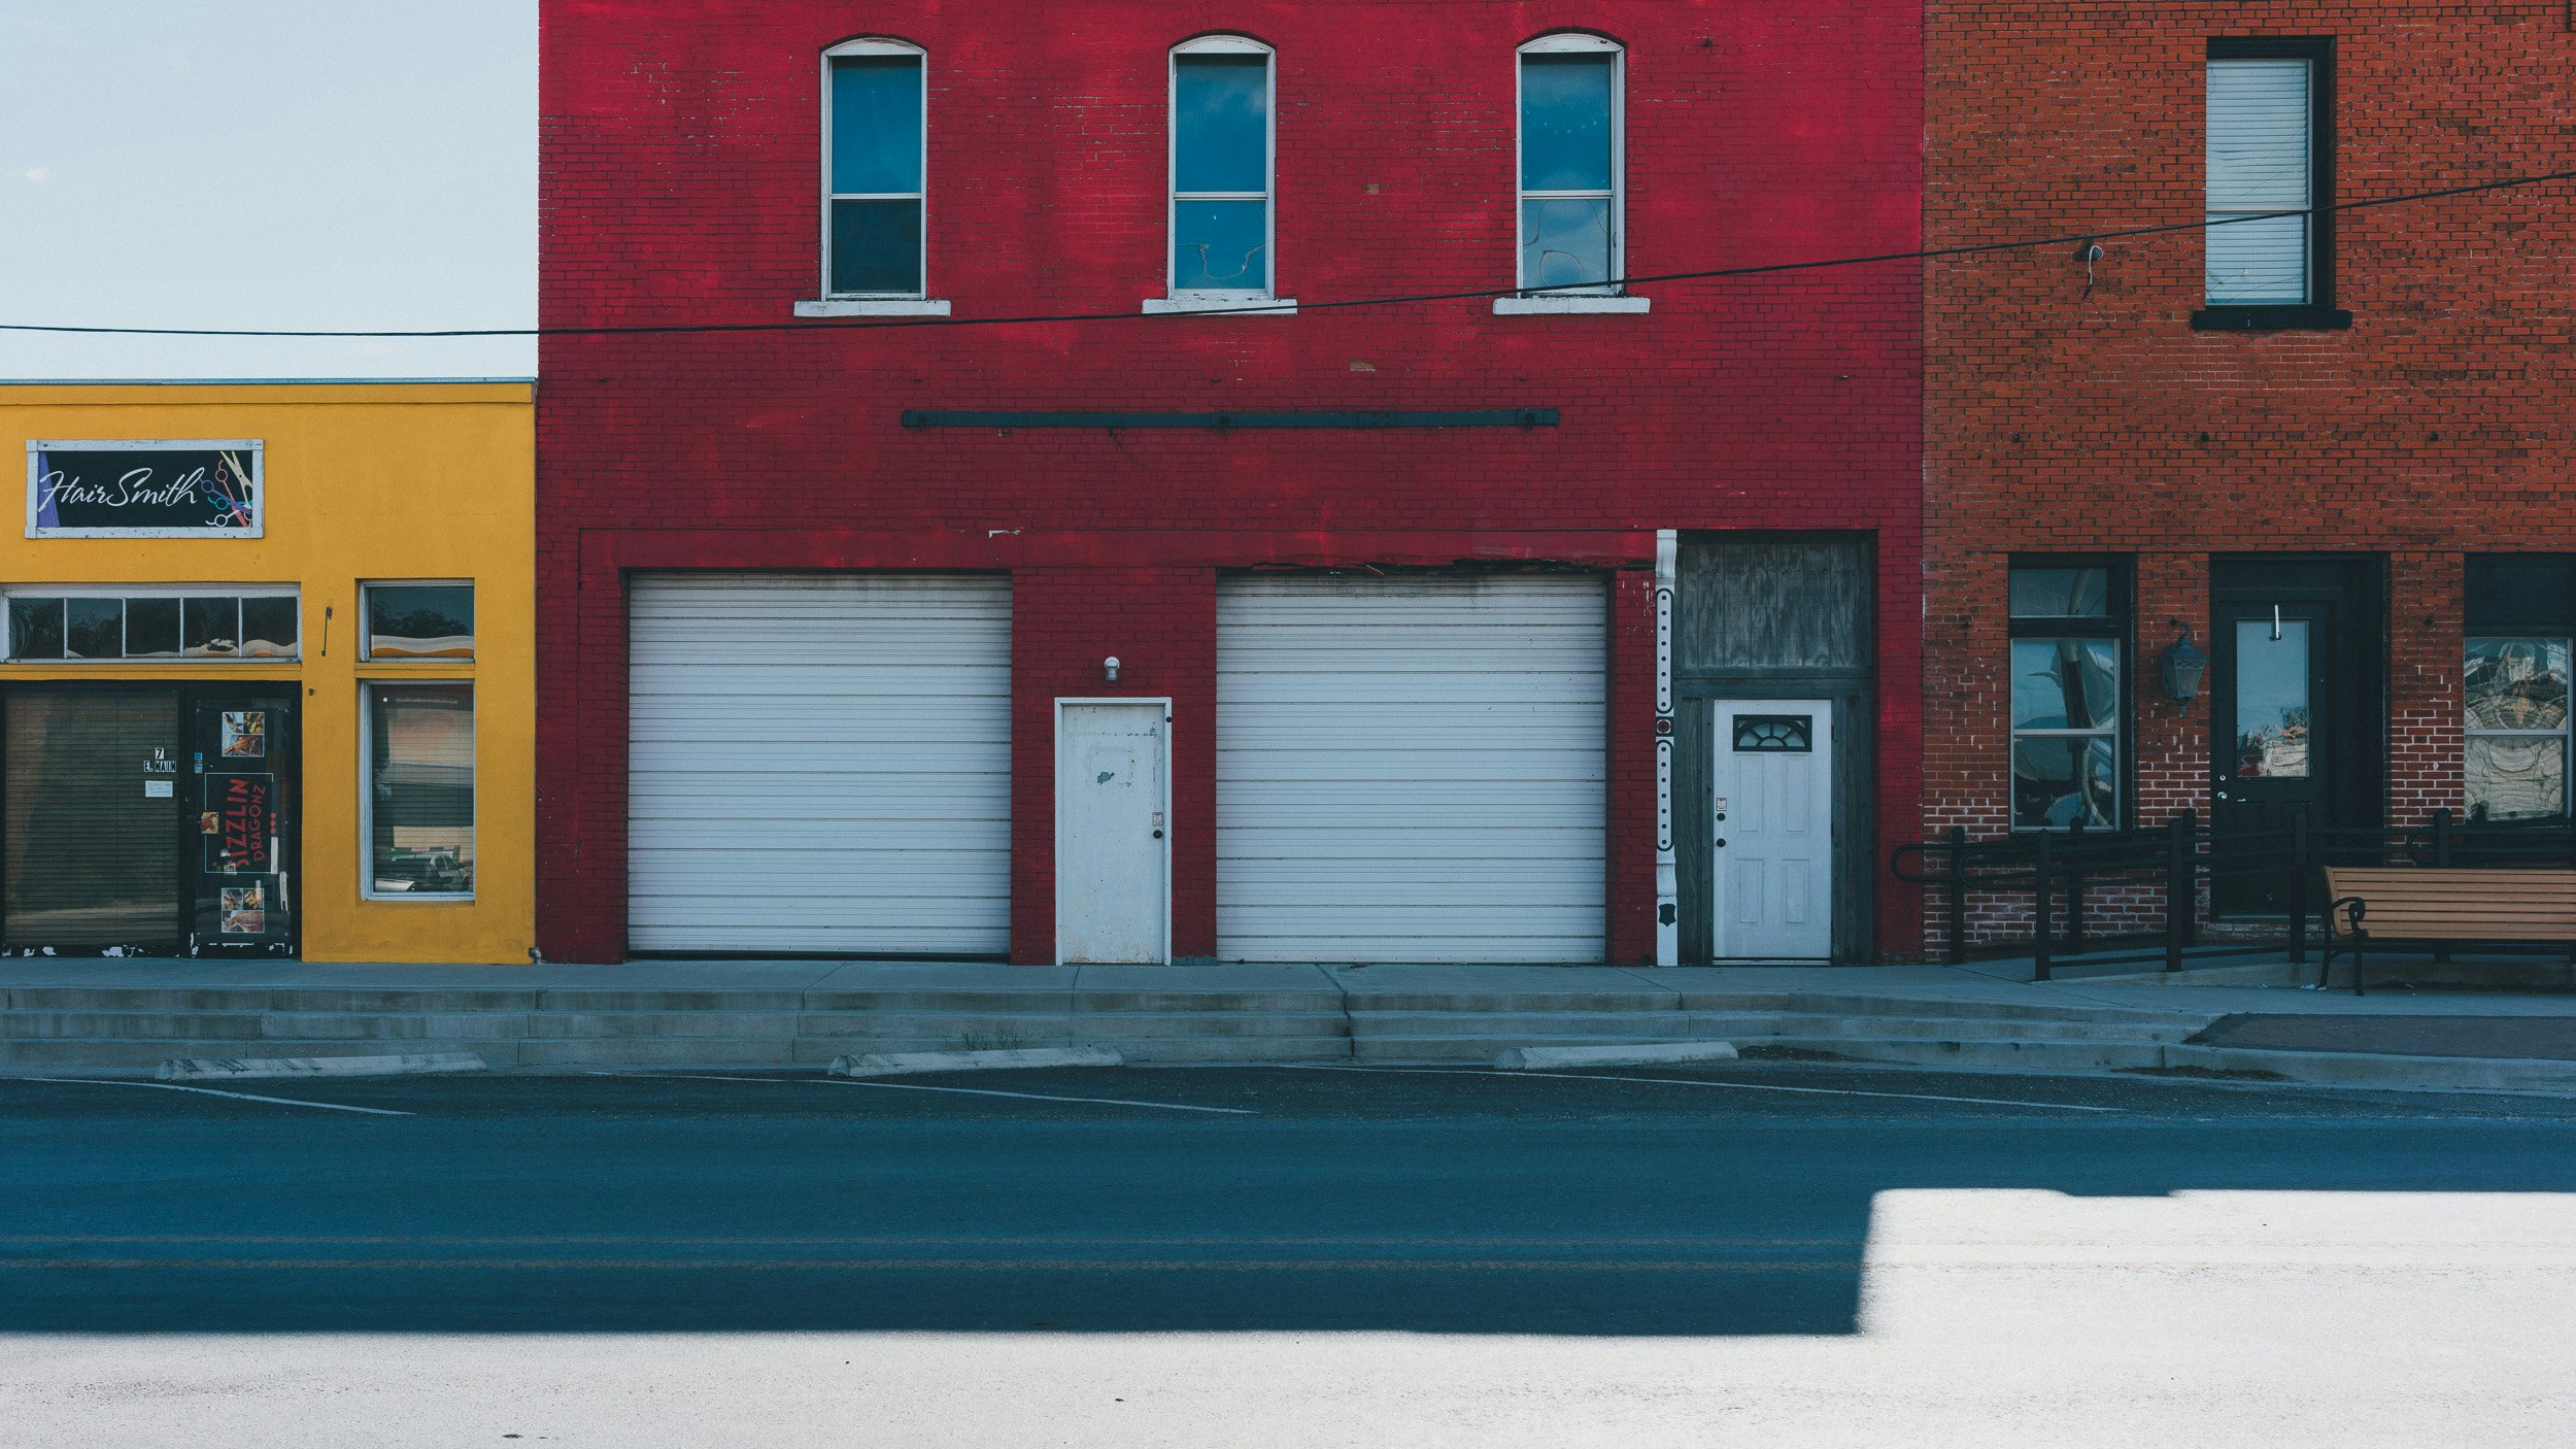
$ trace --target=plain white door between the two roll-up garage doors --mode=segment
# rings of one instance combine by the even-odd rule
[[[1056,959],[1172,959],[1172,706],[1056,701]]]

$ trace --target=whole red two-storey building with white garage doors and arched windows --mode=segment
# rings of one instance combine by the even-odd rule
[[[1914,5],[541,44],[549,957],[1914,938]]]

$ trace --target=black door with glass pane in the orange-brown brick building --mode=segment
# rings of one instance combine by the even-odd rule
[[[2316,853],[2380,822],[2380,634],[2367,562],[2221,562],[2210,588],[2210,822],[2221,915],[2290,908],[2290,833]],[[2251,859],[2246,859],[2251,856]],[[2241,874],[2239,869],[2262,874]]]

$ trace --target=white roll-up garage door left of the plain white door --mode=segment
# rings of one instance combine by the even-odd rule
[[[641,575],[636,951],[999,957],[1010,580]]]

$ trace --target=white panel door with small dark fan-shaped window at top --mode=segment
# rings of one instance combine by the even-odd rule
[[[1721,699],[1716,712],[1713,954],[1834,954],[1834,704]]]

